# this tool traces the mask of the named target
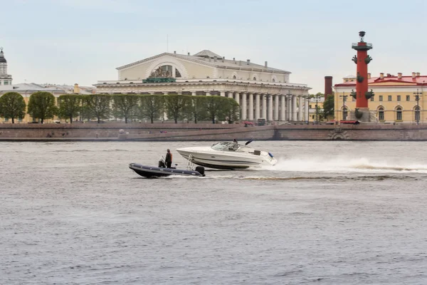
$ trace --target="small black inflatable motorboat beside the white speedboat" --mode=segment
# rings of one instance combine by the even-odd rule
[[[167,168],[164,163],[164,158],[159,160],[159,166],[141,165],[139,163],[130,163],[129,168],[135,171],[138,175],[147,178],[167,177],[171,175],[204,177],[204,167],[196,166],[189,161],[186,170],[176,169],[176,167]]]

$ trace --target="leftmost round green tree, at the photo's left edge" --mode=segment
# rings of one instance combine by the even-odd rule
[[[11,118],[12,124],[15,123],[15,118],[22,119],[25,116],[25,108],[25,101],[19,93],[8,92],[0,97],[0,115]]]

